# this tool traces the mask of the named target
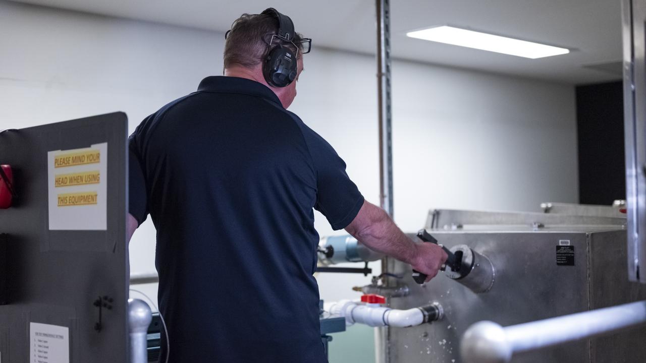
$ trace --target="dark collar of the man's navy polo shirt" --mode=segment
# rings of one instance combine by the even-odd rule
[[[251,79],[227,77],[227,76],[209,76],[202,79],[198,92],[224,92],[224,93],[240,93],[249,94],[251,96],[258,96],[265,98],[269,101],[277,103],[282,107],[278,96],[269,89],[266,85],[260,82],[252,81]]]

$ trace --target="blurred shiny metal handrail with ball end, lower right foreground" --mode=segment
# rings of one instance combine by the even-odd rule
[[[646,301],[507,327],[477,322],[464,333],[461,355],[466,363],[506,363],[516,353],[608,335],[641,324],[646,324]]]

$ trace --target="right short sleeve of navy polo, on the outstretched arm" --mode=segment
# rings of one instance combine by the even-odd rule
[[[314,208],[328,218],[332,229],[344,229],[359,213],[364,197],[350,180],[346,163],[328,141],[304,124],[302,131],[317,174],[317,202]]]

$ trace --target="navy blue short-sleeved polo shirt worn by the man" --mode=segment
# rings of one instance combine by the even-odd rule
[[[342,229],[364,202],[329,143],[266,86],[222,76],[129,143],[130,214],[157,229],[170,362],[326,362],[312,209]]]

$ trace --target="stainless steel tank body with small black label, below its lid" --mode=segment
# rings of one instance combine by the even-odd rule
[[[508,326],[587,311],[591,306],[629,302],[646,293],[645,287],[639,284],[626,288],[625,231],[621,229],[599,231],[599,228],[561,226],[537,232],[492,231],[495,228],[491,226],[490,231],[482,233],[431,232],[448,247],[466,244],[492,261],[495,282],[487,293],[476,294],[443,273],[426,285],[416,285],[410,277],[409,265],[390,262],[388,272],[406,276],[403,283],[410,287],[409,296],[391,298],[391,307],[408,309],[437,301],[446,312],[444,320],[430,325],[391,328],[392,362],[460,362],[459,339],[468,326],[480,320]],[[588,229],[599,232],[589,233]],[[574,246],[574,266],[556,265],[556,246],[560,240],[568,240]],[[643,362],[646,347],[629,344],[634,339],[646,338],[644,333],[636,338],[621,333],[592,342],[523,353],[512,362]],[[590,360],[590,355],[599,360]]]

